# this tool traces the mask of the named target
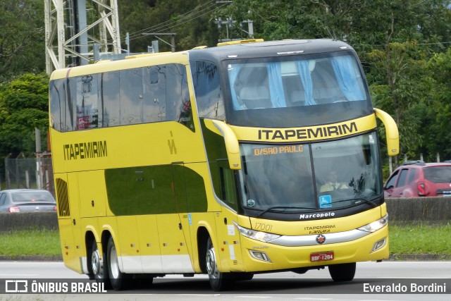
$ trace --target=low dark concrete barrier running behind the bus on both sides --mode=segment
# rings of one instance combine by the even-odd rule
[[[451,223],[451,197],[385,199],[389,223]],[[56,212],[0,213],[0,232],[58,229]]]

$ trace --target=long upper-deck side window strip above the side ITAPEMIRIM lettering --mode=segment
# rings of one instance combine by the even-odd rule
[[[194,130],[184,65],[171,63],[52,80],[58,131],[177,121]]]

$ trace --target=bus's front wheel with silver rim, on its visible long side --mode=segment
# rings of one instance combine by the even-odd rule
[[[230,273],[223,273],[218,271],[218,264],[216,264],[216,254],[214,252],[211,238],[206,242],[206,271],[209,274],[211,289],[215,292],[221,290],[230,290],[233,288],[234,280]]]

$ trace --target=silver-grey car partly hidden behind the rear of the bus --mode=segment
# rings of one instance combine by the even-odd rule
[[[50,192],[38,189],[0,191],[0,212],[34,211],[56,211],[56,202]]]

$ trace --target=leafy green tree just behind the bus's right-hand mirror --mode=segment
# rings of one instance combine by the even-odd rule
[[[371,85],[373,102],[393,113],[400,129],[402,153],[415,152],[423,142],[420,116],[415,111],[421,104],[428,104],[432,87],[424,53],[415,42],[393,42],[385,51],[371,51],[369,59],[374,62],[371,72],[385,75],[381,82]]]

